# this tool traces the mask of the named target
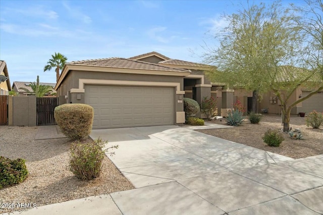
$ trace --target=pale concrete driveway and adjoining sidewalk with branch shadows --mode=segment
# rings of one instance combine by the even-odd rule
[[[173,125],[91,137],[119,145],[110,158],[136,187],[111,194],[115,214],[323,213],[323,155],[293,160]]]

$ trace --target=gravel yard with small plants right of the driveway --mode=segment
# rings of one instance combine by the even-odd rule
[[[304,139],[291,139],[288,133],[283,133],[285,140],[280,147],[269,147],[262,140],[266,129],[283,128],[282,118],[276,114],[265,114],[259,124],[251,124],[246,117],[242,126],[197,131],[294,159],[323,154],[323,126],[320,129],[307,127],[305,119],[306,117],[291,116],[290,120],[292,130],[301,129]],[[226,125],[226,119],[211,122]]]

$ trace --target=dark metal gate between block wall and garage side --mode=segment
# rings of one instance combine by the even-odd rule
[[[56,125],[54,109],[59,106],[59,98],[37,98],[37,125]]]

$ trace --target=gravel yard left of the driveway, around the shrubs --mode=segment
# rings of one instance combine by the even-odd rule
[[[69,170],[71,141],[68,138],[34,140],[37,129],[2,126],[0,156],[25,159],[29,176],[21,184],[0,190],[0,206],[4,203],[41,206],[134,188],[107,157],[98,178],[92,181],[77,179]],[[114,156],[118,156],[118,150],[115,152]],[[21,209],[0,207],[0,213]]]

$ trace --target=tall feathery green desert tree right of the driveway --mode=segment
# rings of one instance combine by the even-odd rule
[[[243,8],[243,7],[242,7]],[[298,87],[315,79],[303,67],[306,32],[299,25],[301,16],[280,2],[260,3],[224,16],[228,27],[216,33],[217,48],[205,48],[204,60],[213,64],[206,72],[211,81],[253,92],[253,111],[258,96],[271,91],[281,103],[284,130],[289,129],[292,107],[309,98],[291,102]],[[317,89],[316,89],[317,90]]]

